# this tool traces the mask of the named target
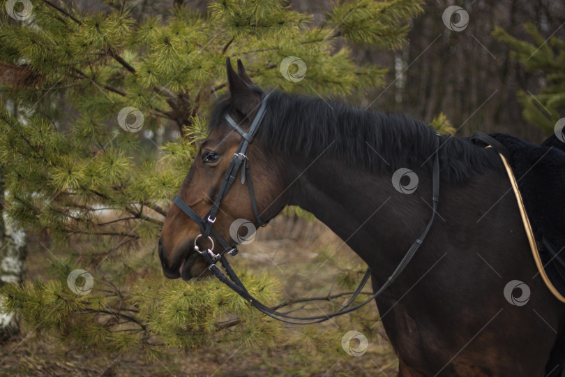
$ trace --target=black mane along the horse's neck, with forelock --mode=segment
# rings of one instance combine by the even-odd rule
[[[337,156],[371,172],[394,171],[422,163],[430,166],[437,135],[432,127],[405,114],[361,110],[322,98],[273,91],[259,132],[261,144],[289,156]],[[226,124],[229,98],[213,108],[210,131]],[[439,137],[442,177],[465,182],[473,172],[502,171],[497,154],[449,135]],[[384,162],[386,161],[386,163]]]

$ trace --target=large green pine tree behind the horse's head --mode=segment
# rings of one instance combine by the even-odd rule
[[[84,13],[37,0],[27,14],[20,2],[3,16],[2,103],[18,105],[16,116],[0,110],[3,211],[31,233],[47,231],[59,251],[45,266],[52,279],[2,288],[4,310],[30,329],[110,353],[158,357],[241,334],[268,341],[278,324],[217,281],[166,281],[154,252],[206,114],[225,92],[225,57],[284,91],[381,87],[386,70],[356,64],[350,43],[398,49],[421,1],[338,1],[320,27],[277,0],[211,1],[206,15],[105,3],[102,13]],[[287,57],[306,64],[301,80],[294,66],[281,73]],[[144,248],[153,253],[133,252]],[[280,300],[271,276],[243,281],[267,304]],[[239,332],[223,331],[234,326]]]

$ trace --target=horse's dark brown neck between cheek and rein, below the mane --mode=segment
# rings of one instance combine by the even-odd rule
[[[289,204],[314,214],[370,267],[396,265],[430,216],[421,197],[431,198],[431,172],[408,167],[418,175],[419,186],[404,194],[393,187],[391,173],[369,172],[332,157],[307,166],[296,166],[296,174],[302,174]]]

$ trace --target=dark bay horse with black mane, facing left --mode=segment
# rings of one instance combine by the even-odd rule
[[[376,291],[434,211],[437,154],[438,219],[398,279],[375,298],[398,356],[398,376],[555,374],[558,365],[546,367],[564,332],[565,306],[536,279],[518,205],[506,195],[511,184],[495,149],[439,135],[404,114],[278,90],[266,96],[241,61],[236,73],[228,60],[227,86],[213,105],[209,134],[178,196],[198,216],[209,212],[243,135],[225,114],[246,131],[264,103],[261,127],[245,156],[254,190],[238,175],[217,216],[208,219],[230,246],[238,242],[229,232],[234,221],[248,219],[258,227],[296,205],[362,258]],[[169,208],[158,244],[167,278],[188,281],[209,274],[198,251],[219,246],[204,246],[214,239],[200,235],[185,212]],[[526,289],[530,293],[526,300],[509,300],[515,298],[505,292],[512,281],[527,286],[521,288],[522,298]]]

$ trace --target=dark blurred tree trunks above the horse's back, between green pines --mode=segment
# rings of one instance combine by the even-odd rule
[[[207,1],[188,3],[206,11]],[[322,22],[332,2],[289,3]],[[451,5],[469,12],[469,24],[462,32],[450,33],[438,22]],[[425,1],[423,11],[411,22],[409,43],[402,50],[354,47],[356,61],[384,66],[389,73],[384,88],[353,96],[350,101],[363,107],[372,103],[375,110],[405,112],[426,122],[443,112],[455,128],[462,125],[457,135],[505,132],[529,142],[543,141],[550,130],[536,127],[522,116],[518,92],[538,94],[547,85],[547,71],[527,71],[493,31],[500,27],[518,40],[533,43],[525,29],[525,24],[532,23],[543,40],[550,36],[564,40],[565,4],[550,0],[434,0]],[[556,56],[555,63],[558,61]]]

